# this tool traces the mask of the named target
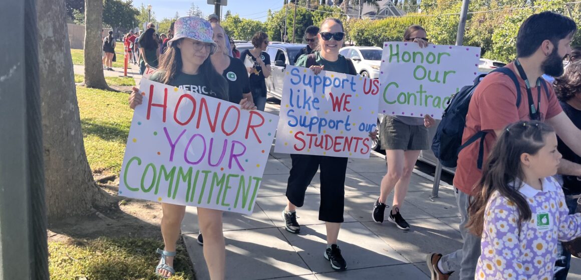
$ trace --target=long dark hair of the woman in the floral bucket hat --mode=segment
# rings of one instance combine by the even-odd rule
[[[163,74],[160,82],[167,84],[175,78],[178,72],[181,72],[184,64],[181,60],[181,50],[178,45],[183,40],[182,38],[171,42],[171,46],[168,46],[166,52],[163,53],[159,61],[159,68],[157,68]],[[208,88],[218,94],[218,96],[227,92],[227,81],[222,75],[218,74],[210,61],[210,56],[200,65],[198,73],[202,75],[203,81],[208,81]]]

